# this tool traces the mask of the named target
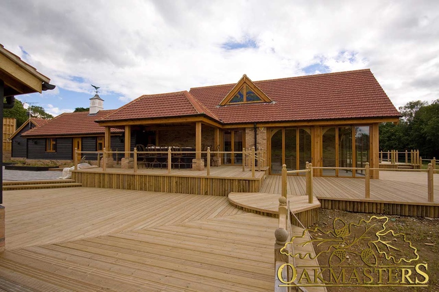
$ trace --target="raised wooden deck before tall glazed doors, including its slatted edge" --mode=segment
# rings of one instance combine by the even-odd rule
[[[427,173],[381,171],[380,179],[370,180],[370,199],[365,199],[364,179],[314,177],[313,194],[322,208],[354,212],[439,217],[439,174],[434,174],[433,203],[427,198]],[[261,193],[281,193],[281,176],[268,176]],[[305,194],[305,177],[288,176],[289,195]]]

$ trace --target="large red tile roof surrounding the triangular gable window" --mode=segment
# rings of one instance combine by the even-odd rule
[[[274,103],[219,107],[235,84],[191,88],[190,93],[223,123],[400,117],[370,69],[254,84]]]

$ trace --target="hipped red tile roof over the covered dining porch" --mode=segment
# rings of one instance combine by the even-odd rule
[[[205,114],[218,120],[188,91],[142,95],[99,121],[181,117]]]

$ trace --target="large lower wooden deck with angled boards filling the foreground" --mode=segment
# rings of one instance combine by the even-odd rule
[[[79,187],[4,206],[5,291],[273,291],[277,219],[226,197]]]

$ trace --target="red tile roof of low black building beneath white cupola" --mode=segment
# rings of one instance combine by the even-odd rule
[[[63,113],[44,125],[35,127],[22,136],[58,136],[58,135],[83,135],[103,134],[105,128],[98,125],[95,120],[104,118],[115,110],[99,111],[96,115],[89,115],[87,112]],[[32,119],[33,120],[33,119]],[[123,132],[121,129],[111,129],[111,132]]]

